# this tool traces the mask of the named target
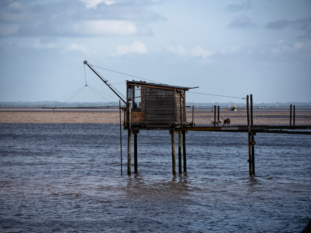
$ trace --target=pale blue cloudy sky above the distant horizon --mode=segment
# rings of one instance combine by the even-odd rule
[[[86,60],[123,95],[143,80],[199,87],[187,103],[310,103],[311,1],[1,0],[0,59],[5,102],[118,102]]]

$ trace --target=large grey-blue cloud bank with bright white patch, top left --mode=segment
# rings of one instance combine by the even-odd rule
[[[3,1],[3,2],[2,2]],[[146,22],[164,20],[139,2],[68,0],[31,5],[0,1],[0,36],[123,36],[148,35]],[[86,7],[86,4],[87,5]]]

